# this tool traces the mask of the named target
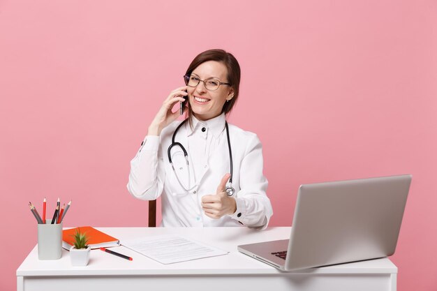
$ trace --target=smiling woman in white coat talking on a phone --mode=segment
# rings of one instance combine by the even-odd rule
[[[260,140],[225,118],[239,93],[237,59],[207,50],[184,80],[164,100],[131,161],[128,191],[142,200],[161,195],[163,226],[267,227],[273,211]],[[185,98],[187,119],[176,121],[180,113],[172,107]]]

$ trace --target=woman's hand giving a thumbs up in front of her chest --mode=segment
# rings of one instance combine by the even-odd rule
[[[225,191],[226,182],[230,174],[225,174],[218,184],[215,195],[205,195],[202,197],[202,209],[205,215],[218,219],[226,214],[234,214],[237,211],[237,202],[233,197],[229,197]]]

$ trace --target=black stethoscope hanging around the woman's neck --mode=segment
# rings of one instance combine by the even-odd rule
[[[180,142],[175,142],[177,130],[179,130],[179,128],[181,128],[181,126],[183,126],[187,120],[188,119],[185,119],[184,121],[182,121],[181,124],[179,124],[179,126],[177,126],[175,133],[173,133],[173,136],[172,136],[172,144],[170,144],[170,147],[168,147],[167,153],[168,153],[168,161],[170,162],[170,165],[172,165],[173,172],[175,173],[175,176],[176,176],[177,181],[179,182],[179,185],[182,188],[184,188],[185,191],[189,192],[189,191],[193,190],[193,188],[195,188],[195,186],[190,188],[190,184],[189,184],[191,182],[191,179],[190,179],[190,164],[188,163],[188,154],[186,153],[186,149],[184,148],[184,146]],[[226,121],[225,121],[225,128],[226,128],[226,137],[228,137],[228,149],[229,149],[229,161],[230,161],[229,186],[226,187],[225,191],[226,191],[226,194],[228,194],[228,196],[232,196],[235,194],[235,189],[232,188],[232,151],[230,150],[229,128],[228,128],[228,122],[226,122]],[[182,149],[182,151],[184,151],[186,168],[188,170],[188,188],[185,188],[185,186],[182,185],[182,182],[179,180],[179,177],[177,177],[175,167],[173,166],[173,163],[172,163],[172,156],[170,154],[170,151],[172,150],[172,147],[175,147],[175,146],[180,147]]]

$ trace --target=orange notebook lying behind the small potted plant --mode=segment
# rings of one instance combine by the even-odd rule
[[[62,231],[62,247],[66,250],[70,250],[70,248],[74,246],[74,235],[76,230],[87,234],[88,245],[91,246],[91,248],[108,248],[110,246],[120,245],[120,241],[115,237],[111,237],[91,226],[81,226]]]

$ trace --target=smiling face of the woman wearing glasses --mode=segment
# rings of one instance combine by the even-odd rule
[[[200,80],[213,78],[219,82],[229,82],[228,69],[219,61],[205,61],[193,70],[191,77],[197,77]],[[232,87],[225,84],[221,84],[215,91],[209,91],[203,82],[199,82],[196,87],[188,86],[187,91],[191,110],[199,120],[208,120],[220,115],[226,100],[234,96]]]

